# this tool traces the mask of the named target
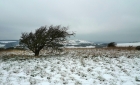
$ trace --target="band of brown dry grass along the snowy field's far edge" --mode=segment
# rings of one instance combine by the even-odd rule
[[[135,47],[112,47],[112,48],[64,48],[63,52],[53,52],[51,50],[41,50],[40,56],[47,57],[48,55],[65,55],[83,57],[135,57],[140,56],[140,51],[135,50]],[[73,55],[74,54],[74,55]],[[34,53],[30,50],[4,50],[0,51],[0,56],[5,58],[35,58]]]

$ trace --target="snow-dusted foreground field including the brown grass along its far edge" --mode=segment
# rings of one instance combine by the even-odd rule
[[[0,85],[140,85],[140,51],[0,52]]]

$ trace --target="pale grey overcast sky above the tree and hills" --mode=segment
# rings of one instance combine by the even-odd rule
[[[45,25],[68,26],[72,39],[140,41],[140,0],[0,0],[0,40]]]

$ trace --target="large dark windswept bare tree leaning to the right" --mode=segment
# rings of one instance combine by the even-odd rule
[[[35,53],[35,56],[38,56],[43,47],[57,48],[63,45],[63,42],[67,39],[66,37],[75,34],[70,34],[67,30],[67,27],[61,27],[60,25],[50,26],[49,28],[42,26],[35,33],[22,33],[20,44],[29,48]]]

